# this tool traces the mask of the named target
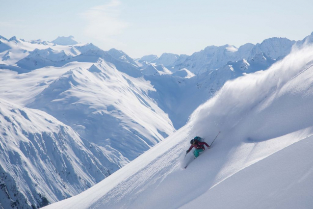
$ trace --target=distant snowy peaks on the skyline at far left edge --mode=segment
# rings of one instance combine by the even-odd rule
[[[46,41],[25,41],[15,36],[9,40],[0,39],[0,68],[34,70],[45,66],[62,66],[67,59],[100,50],[93,44],[56,45]],[[14,68],[15,67],[15,68]]]

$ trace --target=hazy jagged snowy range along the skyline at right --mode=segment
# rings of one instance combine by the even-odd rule
[[[251,59],[258,53],[264,53],[272,59],[282,58],[286,56],[295,41],[287,38],[269,38],[261,44],[245,44],[236,48],[235,46],[209,46],[200,52],[195,52],[191,56],[184,58],[184,61],[176,62],[174,69],[188,69],[192,73],[198,75],[206,71],[212,71],[222,67],[229,61],[237,61],[240,59]],[[172,70],[171,68],[169,68]],[[176,71],[174,70],[174,71]]]

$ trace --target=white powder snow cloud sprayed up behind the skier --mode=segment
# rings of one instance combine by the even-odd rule
[[[192,132],[194,135],[212,137],[218,131],[222,131],[222,135],[224,135],[225,132],[238,129],[236,125],[243,121],[258,104],[261,104],[257,110],[260,113],[275,99],[273,93],[277,96],[280,89],[289,80],[312,67],[312,57],[312,45],[294,46],[289,55],[273,64],[268,70],[229,80],[215,97],[201,105],[191,115],[189,122],[193,126]],[[273,114],[288,115],[291,113],[282,110],[273,112]],[[280,119],[281,117],[279,117]],[[259,126],[259,131],[242,128],[242,130],[238,130],[238,132],[241,131],[241,137],[265,140],[274,136],[276,130],[271,128],[275,127],[272,123],[278,121],[261,121],[259,118],[254,119],[253,123],[251,122],[249,121],[249,124],[246,125],[249,125],[251,129]],[[287,121],[285,122],[287,123]],[[266,126],[261,128],[262,124],[266,124]]]

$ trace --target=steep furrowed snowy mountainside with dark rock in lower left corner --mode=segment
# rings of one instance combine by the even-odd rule
[[[0,99],[0,206],[40,208],[100,182],[117,166],[40,110]]]

